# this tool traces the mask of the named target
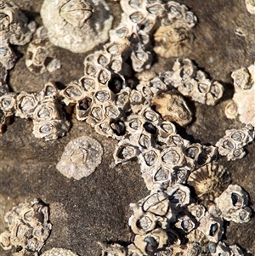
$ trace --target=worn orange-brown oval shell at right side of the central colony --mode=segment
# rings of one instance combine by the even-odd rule
[[[174,93],[162,93],[152,100],[156,111],[164,120],[177,122],[181,126],[189,124],[192,120],[191,111],[184,98]]]

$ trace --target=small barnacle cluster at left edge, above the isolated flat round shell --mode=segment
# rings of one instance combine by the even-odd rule
[[[59,90],[54,83],[47,82],[38,94],[8,93],[0,97],[0,109],[5,117],[30,118],[33,121],[33,134],[45,140],[57,139],[66,134],[70,122],[65,118],[59,103]]]

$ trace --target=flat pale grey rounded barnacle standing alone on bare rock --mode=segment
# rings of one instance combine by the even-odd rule
[[[94,172],[102,160],[103,148],[96,139],[82,136],[66,146],[56,168],[67,178],[82,179]]]

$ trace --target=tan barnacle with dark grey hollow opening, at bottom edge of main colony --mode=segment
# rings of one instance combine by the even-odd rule
[[[156,253],[156,251],[166,246],[167,240],[167,232],[157,228],[145,235],[136,235],[133,243],[142,253],[146,255]]]

